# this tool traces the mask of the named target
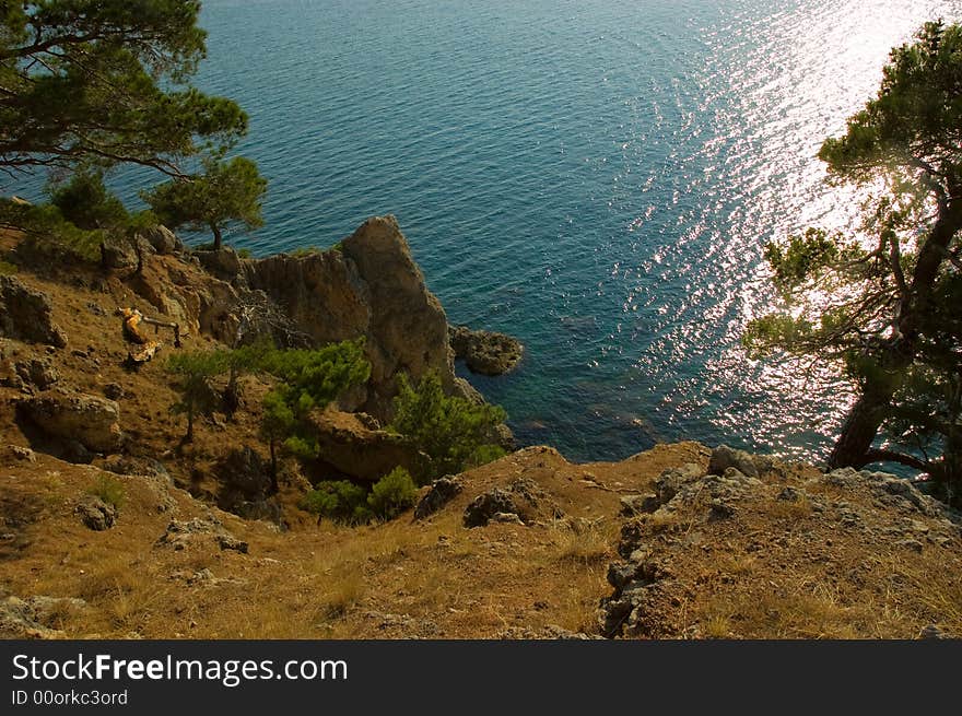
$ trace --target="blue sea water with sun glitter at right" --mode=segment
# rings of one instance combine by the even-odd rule
[[[206,0],[198,84],[250,115],[255,255],[392,213],[451,322],[526,347],[472,382],[521,443],[823,457],[829,366],[750,361],[765,242],[850,226],[816,153],[927,0]]]

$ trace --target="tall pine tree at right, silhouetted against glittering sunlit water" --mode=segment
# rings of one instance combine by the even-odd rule
[[[770,245],[787,308],[753,321],[746,342],[842,361],[858,397],[830,468],[896,461],[958,489],[962,26],[927,23],[893,49],[877,97],[819,156],[840,183],[870,187],[870,246],[820,230]],[[873,447],[883,427],[912,449]]]

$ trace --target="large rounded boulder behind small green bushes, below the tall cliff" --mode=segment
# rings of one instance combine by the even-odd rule
[[[376,482],[396,467],[424,471],[427,457],[401,435],[372,430],[353,413],[328,409],[310,415],[320,459],[342,474]]]

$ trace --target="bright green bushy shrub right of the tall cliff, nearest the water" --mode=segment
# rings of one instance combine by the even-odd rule
[[[418,476],[420,484],[504,455],[490,443],[495,426],[505,420],[502,408],[446,396],[434,371],[417,388],[401,375],[399,387],[389,429],[414,441],[431,458],[427,474]]]

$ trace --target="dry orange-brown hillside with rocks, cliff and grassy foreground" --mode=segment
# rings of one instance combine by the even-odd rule
[[[962,523],[882,474],[696,443],[590,465],[528,447],[445,482],[447,502],[423,488],[420,518],[318,524],[301,496],[325,471],[365,479],[349,462],[386,449],[372,434],[398,371],[472,395],[397,224],[260,261],[149,244],[138,273],[124,247],[103,269],[2,237],[16,266],[0,320],[3,636],[962,637]],[[180,350],[364,338],[372,379],[331,415],[330,461],[265,494],[254,376],[234,420],[180,444],[162,360],[178,349],[162,328],[157,357],[131,368],[116,310],[133,306],[177,321]],[[119,495],[116,514],[92,490]]]

